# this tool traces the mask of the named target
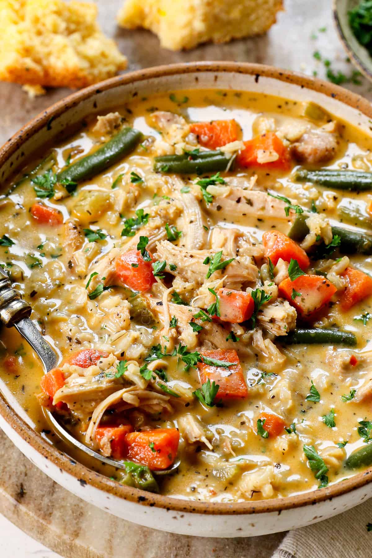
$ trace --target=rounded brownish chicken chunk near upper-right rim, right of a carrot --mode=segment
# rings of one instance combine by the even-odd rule
[[[340,139],[336,134],[312,130],[305,132],[291,146],[291,155],[299,163],[320,165],[331,161],[340,147]]]

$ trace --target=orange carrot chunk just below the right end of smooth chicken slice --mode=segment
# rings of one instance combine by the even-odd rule
[[[307,270],[308,266],[310,266],[310,259],[307,257],[306,252],[294,240],[278,230],[267,230],[264,232],[262,243],[265,247],[266,256],[270,258],[274,266],[278,263],[279,258],[288,263],[291,259],[296,259],[303,271]]]

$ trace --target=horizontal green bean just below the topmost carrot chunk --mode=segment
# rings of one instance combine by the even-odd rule
[[[164,155],[155,157],[154,171],[176,174],[204,174],[206,172],[233,170],[234,161],[221,151],[202,151],[197,155]],[[230,164],[232,163],[232,164]]]

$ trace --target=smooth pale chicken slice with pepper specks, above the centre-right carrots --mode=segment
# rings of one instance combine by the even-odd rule
[[[208,209],[213,213],[223,211],[229,220],[241,220],[241,217],[247,215],[259,219],[287,220],[285,211],[287,205],[286,202],[273,198],[266,192],[234,188],[228,196],[214,198]],[[289,210],[289,215],[292,214],[293,210]]]

